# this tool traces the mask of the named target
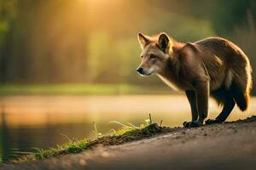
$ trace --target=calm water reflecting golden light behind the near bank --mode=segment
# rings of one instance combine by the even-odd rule
[[[237,108],[229,121],[252,116],[256,99],[248,111]],[[98,132],[108,134],[119,125],[111,121],[139,125],[151,113],[153,122],[181,126],[190,120],[189,102],[179,96],[2,96],[0,97],[0,161],[9,161],[34,148],[47,149],[70,139],[94,138]],[[220,108],[211,100],[210,117]],[[67,137],[65,137],[67,136]]]

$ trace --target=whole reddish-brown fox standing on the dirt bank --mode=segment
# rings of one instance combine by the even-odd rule
[[[144,77],[156,74],[171,88],[185,92],[192,119],[183,122],[183,127],[224,122],[235,105],[247,110],[253,70],[234,42],[223,37],[177,42],[165,32],[156,36],[138,33],[137,39],[142,48],[137,72]],[[205,122],[209,97],[222,111]]]

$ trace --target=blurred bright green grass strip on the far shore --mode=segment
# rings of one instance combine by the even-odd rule
[[[0,84],[0,95],[14,94],[165,94],[168,88],[140,87],[131,84]]]

